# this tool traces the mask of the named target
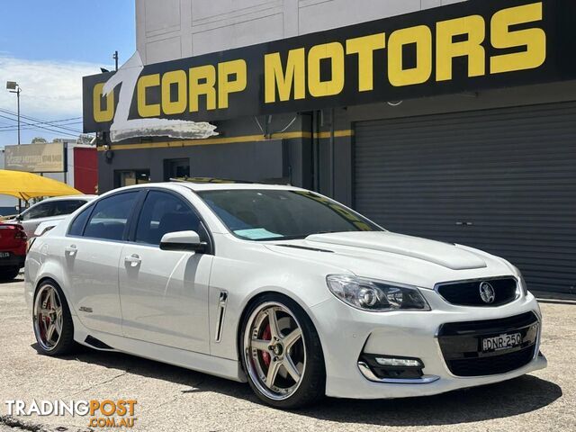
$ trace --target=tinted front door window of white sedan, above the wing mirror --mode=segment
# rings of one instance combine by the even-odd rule
[[[172,193],[150,191],[140,212],[136,242],[159,246],[165,234],[177,231],[196,231],[201,238],[205,232],[190,204]]]

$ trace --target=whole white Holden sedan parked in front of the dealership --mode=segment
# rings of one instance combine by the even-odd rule
[[[289,186],[106,193],[36,240],[25,284],[43,354],[121,351],[247,382],[284,409],[433,395],[546,365],[515,266]]]

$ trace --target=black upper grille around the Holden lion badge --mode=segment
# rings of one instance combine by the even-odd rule
[[[492,302],[482,300],[481,286],[490,284]],[[518,298],[518,281],[514,277],[438,284],[437,292],[451,304],[458,306],[494,307],[514,302]]]

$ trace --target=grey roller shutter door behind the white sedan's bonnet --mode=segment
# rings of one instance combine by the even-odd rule
[[[356,123],[356,209],[576,293],[576,103]]]

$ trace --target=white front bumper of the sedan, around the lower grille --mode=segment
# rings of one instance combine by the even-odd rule
[[[312,308],[312,320],[325,356],[328,396],[351,399],[427,396],[500,383],[546,367],[545,356],[539,354],[541,314],[531,294],[495,308],[456,307],[444,302],[437,293],[423,294],[432,311],[372,313],[353,309],[336,298]],[[438,338],[443,325],[503,320],[527,312],[533,312],[537,319],[533,352],[527,362],[502,374],[456,376],[451,372]],[[424,364],[423,376],[409,380],[378,379],[369,366],[363,365],[360,359],[363,354],[417,358]]]

